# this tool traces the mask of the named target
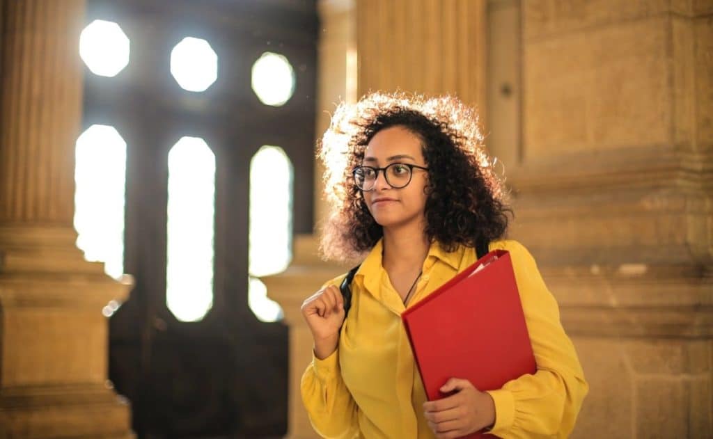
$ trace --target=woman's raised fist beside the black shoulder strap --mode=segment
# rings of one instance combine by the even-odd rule
[[[327,358],[337,348],[344,323],[344,298],[337,286],[320,289],[302,303],[302,316],[314,339],[314,354]]]

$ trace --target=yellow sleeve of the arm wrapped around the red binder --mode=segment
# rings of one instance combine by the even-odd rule
[[[566,438],[589,386],[535,259],[518,242],[508,241],[505,248],[511,254],[538,370],[488,392],[496,408],[489,433],[501,438]]]

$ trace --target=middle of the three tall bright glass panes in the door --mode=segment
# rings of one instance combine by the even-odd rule
[[[215,155],[184,137],[168,153],[166,305],[180,321],[198,321],[213,303]]]

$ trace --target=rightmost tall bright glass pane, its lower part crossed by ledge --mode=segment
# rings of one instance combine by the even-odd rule
[[[250,275],[282,272],[292,259],[292,180],[294,171],[282,148],[265,145],[250,161]],[[250,284],[250,309],[258,319],[275,321],[282,311],[260,287]]]

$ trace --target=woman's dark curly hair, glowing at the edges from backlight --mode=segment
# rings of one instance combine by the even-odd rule
[[[352,169],[380,130],[401,126],[421,140],[429,167],[425,234],[447,251],[476,247],[503,237],[508,228],[503,182],[483,150],[478,115],[451,96],[426,98],[405,93],[371,93],[356,105],[342,103],[319,143],[330,212],[322,227],[325,259],[352,262],[383,236],[354,183]]]

